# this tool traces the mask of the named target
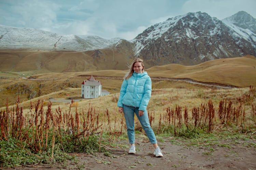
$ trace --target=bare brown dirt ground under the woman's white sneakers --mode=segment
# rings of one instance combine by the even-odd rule
[[[29,165],[17,169],[241,169],[256,170],[255,138],[250,140],[219,140],[190,146],[186,142],[173,142],[174,138],[163,138],[159,142],[163,157],[153,155],[153,146],[145,139],[137,139],[136,154],[128,154],[127,148],[105,146],[110,156],[104,153],[88,155],[79,153],[77,163],[66,165]],[[172,142],[171,142],[172,141]],[[118,141],[127,144],[127,140]]]

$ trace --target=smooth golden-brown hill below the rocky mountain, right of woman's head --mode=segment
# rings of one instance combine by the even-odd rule
[[[256,57],[244,56],[217,59],[195,66],[169,64],[147,70],[152,77],[190,78],[200,82],[215,82],[239,87],[256,85]]]

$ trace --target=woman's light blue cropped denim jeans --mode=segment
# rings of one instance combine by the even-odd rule
[[[135,135],[134,135],[134,112],[136,113],[136,116],[138,117],[140,124],[144,131],[147,134],[148,139],[150,142],[157,143],[156,136],[154,131],[152,130],[150,126],[150,121],[148,119],[147,111],[144,112],[142,116],[139,116],[139,107],[132,107],[132,106],[123,106],[123,112],[125,115],[125,122],[127,127],[127,134],[129,143],[133,144],[135,142]]]

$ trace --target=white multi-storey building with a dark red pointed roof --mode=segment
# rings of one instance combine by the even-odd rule
[[[81,97],[85,99],[98,98],[109,95],[110,92],[101,89],[100,81],[96,81],[91,75],[89,79],[82,82]]]

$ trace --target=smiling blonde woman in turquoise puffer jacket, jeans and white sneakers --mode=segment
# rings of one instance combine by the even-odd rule
[[[128,153],[135,154],[134,113],[138,117],[148,139],[155,147],[154,155],[162,157],[162,151],[157,145],[157,140],[150,126],[147,114],[147,104],[151,97],[151,78],[144,71],[143,60],[133,60],[130,71],[125,75],[117,102],[118,111],[124,113],[129,143]]]

